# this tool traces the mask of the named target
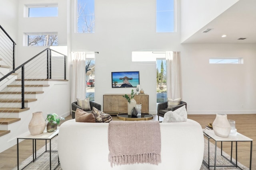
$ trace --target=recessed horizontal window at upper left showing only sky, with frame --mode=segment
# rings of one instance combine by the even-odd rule
[[[46,4],[40,6],[26,6],[26,17],[57,17],[58,5]]]

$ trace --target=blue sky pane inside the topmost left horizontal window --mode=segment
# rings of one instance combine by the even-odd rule
[[[28,17],[56,17],[58,7],[29,7]]]

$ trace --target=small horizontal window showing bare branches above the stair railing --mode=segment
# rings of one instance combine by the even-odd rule
[[[57,46],[57,33],[27,33],[27,46]]]

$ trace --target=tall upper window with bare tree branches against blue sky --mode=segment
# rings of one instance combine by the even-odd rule
[[[94,33],[94,0],[77,0],[77,33]]]

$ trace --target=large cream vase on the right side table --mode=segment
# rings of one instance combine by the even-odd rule
[[[230,134],[230,123],[228,122],[227,115],[217,113],[216,118],[212,123],[214,134],[220,137],[228,137]]]

